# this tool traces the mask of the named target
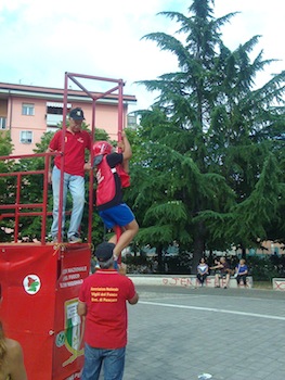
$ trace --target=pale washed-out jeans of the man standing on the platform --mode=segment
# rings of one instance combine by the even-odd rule
[[[61,183],[61,170],[56,166],[52,170],[52,191],[53,191],[53,223],[51,226],[52,237],[57,236],[59,230],[59,208],[60,208],[60,185]],[[77,235],[85,207],[85,178],[81,176],[72,176],[64,173],[63,178],[63,215],[62,215],[62,231],[64,231],[65,225],[65,206],[67,190],[70,191],[73,198],[73,211],[70,216],[70,224],[67,232],[67,238],[73,235]],[[63,232],[62,232],[63,236]]]

